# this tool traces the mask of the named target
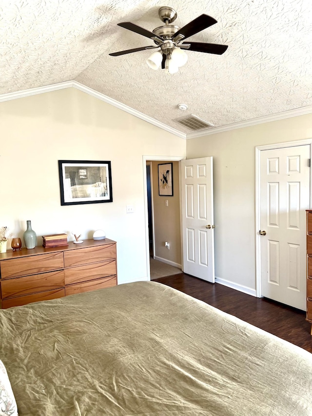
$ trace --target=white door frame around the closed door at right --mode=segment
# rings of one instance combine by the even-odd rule
[[[261,297],[261,245],[260,245],[260,156],[263,150],[281,149],[285,147],[310,145],[310,159],[312,139],[303,139],[297,141],[286,141],[282,143],[265,144],[255,147],[255,279],[256,279],[256,297]],[[310,169],[310,207],[312,206],[312,169]]]

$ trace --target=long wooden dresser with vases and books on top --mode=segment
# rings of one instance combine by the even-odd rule
[[[0,253],[2,309],[116,285],[116,241],[108,238]]]

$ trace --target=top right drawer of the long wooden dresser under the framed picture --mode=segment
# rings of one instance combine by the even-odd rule
[[[116,258],[116,244],[68,250],[64,252],[64,267],[78,266],[80,264],[94,263],[114,258]]]

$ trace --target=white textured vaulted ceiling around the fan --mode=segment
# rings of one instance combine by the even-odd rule
[[[108,55],[154,45],[117,22],[152,31],[161,6],[179,27],[214,17],[189,40],[227,51],[187,51],[173,75],[150,69],[148,50]],[[190,113],[218,127],[312,105],[312,1],[0,0],[0,94],[73,79],[182,133],[173,119]]]

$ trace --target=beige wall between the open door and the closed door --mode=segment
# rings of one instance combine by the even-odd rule
[[[311,138],[312,114],[187,140],[214,158],[216,277],[255,289],[255,146]]]

